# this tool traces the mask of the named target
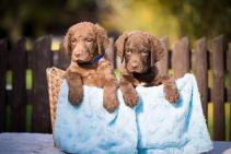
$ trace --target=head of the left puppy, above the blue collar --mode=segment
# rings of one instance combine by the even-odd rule
[[[91,62],[102,55],[108,46],[106,32],[99,24],[82,22],[72,25],[63,39],[63,47],[71,61],[81,63]]]

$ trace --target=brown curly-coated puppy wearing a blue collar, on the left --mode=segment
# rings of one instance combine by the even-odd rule
[[[109,51],[105,29],[89,22],[74,24],[65,36],[63,47],[71,57],[71,63],[66,71],[70,103],[81,103],[83,84],[103,87],[103,105],[109,112],[114,111],[117,107],[117,83],[113,66],[104,56]]]

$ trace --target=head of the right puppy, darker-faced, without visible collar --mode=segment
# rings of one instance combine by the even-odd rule
[[[130,73],[146,73],[163,57],[165,50],[157,37],[141,31],[124,33],[115,44],[122,62],[125,61]]]

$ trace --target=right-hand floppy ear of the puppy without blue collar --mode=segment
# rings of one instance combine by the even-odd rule
[[[161,60],[164,56],[166,48],[161,40],[153,35],[149,35],[149,40],[151,44],[151,67],[154,67],[155,62]]]

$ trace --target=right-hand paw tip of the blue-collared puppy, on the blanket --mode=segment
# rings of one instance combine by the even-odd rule
[[[103,102],[104,108],[108,111],[108,112],[113,112],[115,111],[115,109],[118,106],[118,100],[117,100],[117,96],[105,96],[104,95],[104,102]]]

